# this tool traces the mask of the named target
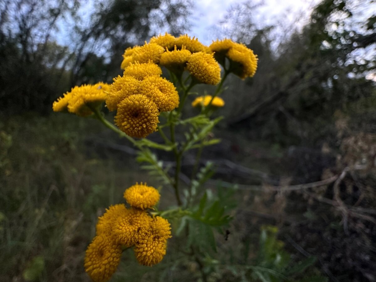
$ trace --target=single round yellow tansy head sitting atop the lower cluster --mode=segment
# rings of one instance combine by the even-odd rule
[[[154,206],[159,201],[159,192],[152,186],[147,186],[146,183],[136,183],[130,186],[124,192],[124,199],[127,200],[129,205],[139,208],[148,209]]]

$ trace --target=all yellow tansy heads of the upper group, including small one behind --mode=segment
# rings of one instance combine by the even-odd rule
[[[53,110],[80,116],[95,111],[98,116],[97,109],[106,102],[109,111],[117,112],[114,121],[121,131],[134,138],[144,138],[157,130],[161,112],[179,107],[176,87],[162,77],[161,66],[171,71],[184,88],[183,71],[190,73],[190,87],[196,83],[217,85],[221,80],[220,65],[225,70],[223,79],[228,73],[244,79],[255,74],[257,56],[246,45],[230,39],[205,46],[188,35],[175,37],[165,33],[151,38],[143,46],[127,48],[121,63],[124,73],[114,78],[111,85],[75,86],[53,103]],[[199,97],[192,105],[224,105],[220,98],[208,97]]]

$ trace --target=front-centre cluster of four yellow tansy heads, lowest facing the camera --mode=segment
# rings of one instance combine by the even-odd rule
[[[127,135],[143,138],[156,131],[159,113],[179,106],[173,83],[161,77],[153,62],[130,63],[123,76],[114,78],[106,99],[107,108],[117,111],[115,123]]]

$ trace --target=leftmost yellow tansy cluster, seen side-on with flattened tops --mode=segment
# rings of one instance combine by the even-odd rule
[[[70,92],[53,102],[52,109],[55,112],[68,111],[86,117],[92,114],[92,108],[105,102],[108,87],[108,84],[102,82],[94,85],[74,86]]]

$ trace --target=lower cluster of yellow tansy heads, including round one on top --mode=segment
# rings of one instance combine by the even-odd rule
[[[108,281],[120,263],[124,248],[134,247],[137,261],[152,266],[166,254],[171,238],[170,223],[162,217],[151,217],[146,209],[159,201],[159,192],[146,183],[133,185],[124,192],[130,205],[110,206],[99,218],[96,237],[85,255],[85,271],[94,282]]]

